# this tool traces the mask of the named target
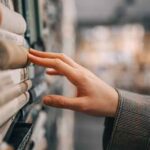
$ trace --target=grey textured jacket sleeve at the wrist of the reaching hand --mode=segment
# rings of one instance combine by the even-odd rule
[[[119,105],[107,150],[150,150],[150,96],[118,90]]]

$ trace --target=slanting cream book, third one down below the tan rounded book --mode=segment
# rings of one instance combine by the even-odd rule
[[[0,126],[15,115],[23,106],[29,102],[29,93],[26,92],[21,96],[13,99],[0,109]]]

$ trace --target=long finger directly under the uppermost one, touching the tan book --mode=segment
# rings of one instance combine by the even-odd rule
[[[60,74],[65,75],[70,81],[76,82],[77,80],[77,73],[75,69],[73,69],[71,66],[64,63],[60,59],[40,58],[32,54],[28,54],[28,58],[31,62],[37,65],[55,69]]]

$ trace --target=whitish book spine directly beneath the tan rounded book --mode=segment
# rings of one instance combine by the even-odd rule
[[[29,79],[27,68],[0,71],[0,90],[19,84],[27,79]]]

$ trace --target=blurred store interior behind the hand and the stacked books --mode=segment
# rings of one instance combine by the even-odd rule
[[[150,0],[12,0],[11,4],[27,22],[26,46],[64,53],[114,88],[150,94]],[[0,80],[3,72],[0,68]],[[45,75],[44,68],[33,64],[28,73],[33,82],[30,101],[11,115],[13,121],[2,137],[0,126],[0,150],[103,150],[104,117],[41,102],[48,94],[74,97],[75,87],[65,77]]]

